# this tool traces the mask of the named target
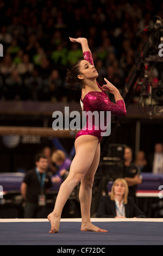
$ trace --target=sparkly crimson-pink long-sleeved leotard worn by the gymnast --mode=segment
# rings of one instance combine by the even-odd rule
[[[83,53],[83,57],[85,60],[87,60],[91,65],[93,65],[93,59],[92,54],[89,51],[86,51]],[[97,83],[98,87],[101,89],[101,86]],[[122,117],[126,115],[126,107],[123,100],[118,100],[116,103],[113,103],[110,101],[108,94],[103,92],[89,92],[84,96],[84,99],[81,101],[83,103],[84,111],[87,113],[92,113],[94,111],[97,111],[99,114],[101,111],[104,111],[104,123],[105,126],[107,126],[106,120],[106,111],[110,111],[111,114],[117,115],[119,117]],[[94,112],[95,113],[95,112]],[[90,119],[86,116],[86,125],[83,127],[82,130],[80,130],[77,135],[76,139],[79,136],[82,135],[92,135],[98,138],[98,143],[102,139],[101,133],[104,132],[104,130],[101,130],[100,125],[97,127],[97,123],[95,122],[95,117],[92,115],[92,121],[90,123]],[[105,129],[106,130],[106,129]]]

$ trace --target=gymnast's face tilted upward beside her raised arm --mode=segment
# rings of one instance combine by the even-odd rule
[[[91,65],[87,60],[82,60],[79,63],[79,71],[80,75],[78,75],[79,79],[91,79],[94,80],[98,77],[97,70],[94,65]]]

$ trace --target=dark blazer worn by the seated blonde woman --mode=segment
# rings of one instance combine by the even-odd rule
[[[128,203],[124,205],[127,218],[146,218],[143,212],[134,203],[134,199],[128,197]],[[99,202],[97,218],[115,218],[116,206],[115,201],[110,200],[109,196],[104,196]]]

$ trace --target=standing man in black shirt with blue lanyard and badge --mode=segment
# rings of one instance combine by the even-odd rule
[[[46,218],[46,194],[52,182],[46,173],[48,160],[44,155],[36,155],[36,167],[29,170],[21,184],[25,200],[24,218]]]

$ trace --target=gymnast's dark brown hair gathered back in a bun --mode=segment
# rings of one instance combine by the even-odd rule
[[[66,82],[70,85],[72,89],[76,89],[74,85],[76,83],[82,83],[82,81],[78,78],[78,75],[80,74],[79,71],[79,63],[81,60],[79,60],[77,63],[75,63],[71,70],[67,70],[66,74]]]

